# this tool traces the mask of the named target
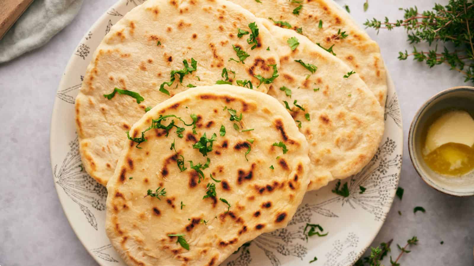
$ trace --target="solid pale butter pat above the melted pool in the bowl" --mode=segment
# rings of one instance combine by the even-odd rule
[[[423,153],[427,155],[449,142],[473,147],[474,119],[469,113],[449,111],[441,115],[428,129]]]

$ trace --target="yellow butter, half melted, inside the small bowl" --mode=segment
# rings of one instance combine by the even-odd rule
[[[433,171],[461,176],[474,169],[474,119],[466,111],[447,111],[428,128],[423,159]]]

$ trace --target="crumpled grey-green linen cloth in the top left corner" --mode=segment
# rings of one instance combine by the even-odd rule
[[[71,23],[82,1],[34,0],[0,40],[0,63],[46,44]]]

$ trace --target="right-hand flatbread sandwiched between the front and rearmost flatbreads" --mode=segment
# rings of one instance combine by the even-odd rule
[[[282,105],[288,103],[310,144],[308,189],[356,174],[372,159],[383,135],[383,109],[374,94],[358,74],[345,78],[350,67],[305,36],[268,21],[264,25],[279,45],[281,64],[280,77],[268,94]],[[292,37],[299,42],[293,51],[287,43]],[[311,74],[295,60],[313,64],[317,70]],[[280,90],[283,86],[291,90],[291,96]],[[305,111],[293,104],[295,100]]]

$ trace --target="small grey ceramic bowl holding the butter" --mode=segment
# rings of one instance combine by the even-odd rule
[[[421,106],[413,118],[408,134],[408,151],[413,167],[419,176],[429,186],[443,193],[455,196],[474,195],[474,171],[461,177],[446,177],[440,175],[426,165],[423,160],[421,143],[426,136],[426,130],[437,114],[450,108],[473,109],[474,87],[454,87],[443,90],[431,97]]]

